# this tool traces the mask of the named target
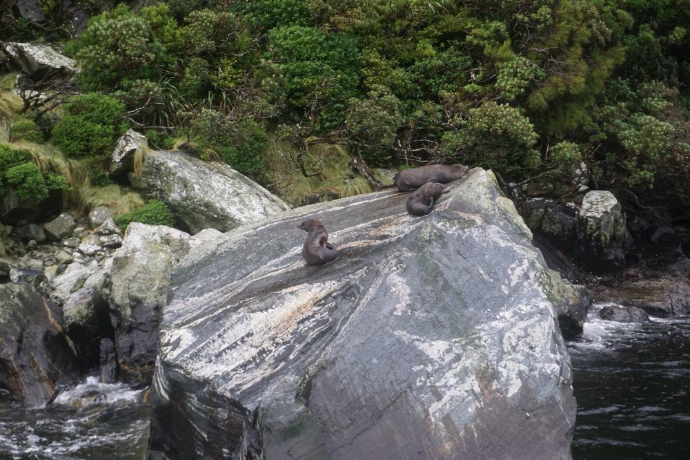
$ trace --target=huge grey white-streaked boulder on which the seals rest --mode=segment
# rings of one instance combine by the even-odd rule
[[[150,457],[569,459],[551,272],[493,173],[430,214],[379,192],[193,248],[173,274]],[[304,264],[318,218],[341,252]]]

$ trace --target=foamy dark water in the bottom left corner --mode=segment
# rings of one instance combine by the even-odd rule
[[[141,390],[92,377],[49,408],[0,396],[0,459],[140,460],[150,416],[141,396]]]

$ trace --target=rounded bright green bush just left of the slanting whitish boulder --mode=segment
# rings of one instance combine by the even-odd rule
[[[124,111],[124,104],[113,97],[83,95],[66,105],[66,115],[52,130],[55,143],[68,157],[105,157],[127,128]]]

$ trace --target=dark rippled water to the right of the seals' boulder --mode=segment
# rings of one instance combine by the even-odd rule
[[[569,344],[573,458],[690,459],[690,318],[615,323],[600,307]]]

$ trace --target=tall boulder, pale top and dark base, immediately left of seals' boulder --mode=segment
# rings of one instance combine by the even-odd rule
[[[128,383],[150,381],[170,274],[193,242],[183,231],[132,222],[113,253],[110,319],[120,376]]]

